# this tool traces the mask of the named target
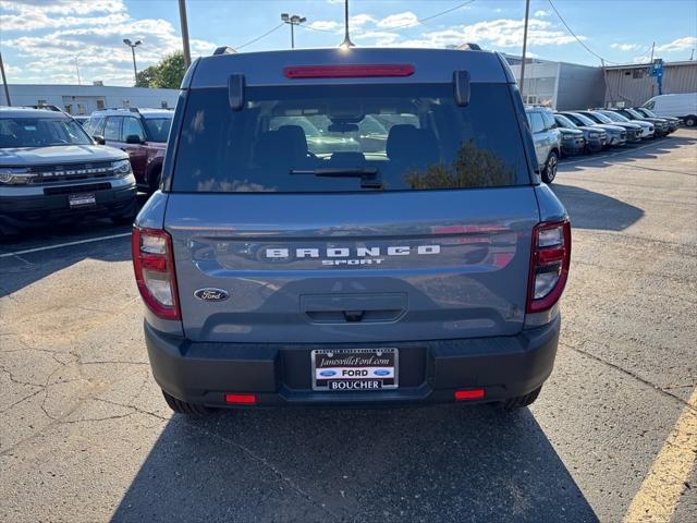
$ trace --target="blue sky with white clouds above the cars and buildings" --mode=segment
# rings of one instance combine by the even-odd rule
[[[697,47],[695,0],[552,0],[571,29],[610,62],[656,57],[688,60]],[[351,0],[352,39],[362,46],[444,47],[475,41],[519,53],[524,0]],[[453,9],[456,8],[456,9]],[[187,0],[192,54],[239,47],[280,24],[280,13],[308,20],[296,47],[333,47],[343,38],[343,0]],[[419,22],[437,13],[450,12]],[[181,48],[175,0],[0,0],[0,51],[10,83],[131,85],[131,52],[122,38],[142,39],[138,69]],[[278,27],[244,51],[290,47]],[[600,64],[570,35],[548,0],[533,0],[528,50],[550,60]],[[695,59],[697,59],[697,49]]]

